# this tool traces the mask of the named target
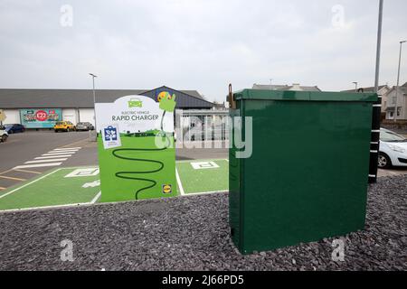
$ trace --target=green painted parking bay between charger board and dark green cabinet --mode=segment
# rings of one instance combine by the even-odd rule
[[[185,194],[229,190],[228,160],[203,160],[176,163],[178,187]]]

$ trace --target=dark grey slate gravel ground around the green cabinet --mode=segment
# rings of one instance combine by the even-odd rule
[[[0,213],[0,270],[406,270],[407,176],[369,189],[366,229],[241,256],[232,246],[227,194]],[[62,262],[61,242],[73,244]]]

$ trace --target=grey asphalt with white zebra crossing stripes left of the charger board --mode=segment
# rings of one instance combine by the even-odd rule
[[[96,143],[91,143],[89,132],[56,134],[53,131],[27,131],[10,135],[5,143],[0,144],[0,191],[32,179],[53,167],[71,166],[72,163],[97,164]],[[49,153],[56,154],[58,150],[66,148],[75,149],[63,158],[45,156]],[[44,157],[49,159],[38,159]],[[52,161],[61,159],[66,160]],[[44,166],[35,167],[35,164],[39,163]],[[52,166],[50,163],[60,164]]]

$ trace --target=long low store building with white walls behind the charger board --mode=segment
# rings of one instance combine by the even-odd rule
[[[114,102],[129,95],[157,99],[160,92],[176,95],[177,109],[213,109],[212,102],[196,90],[175,90],[166,86],[157,89],[97,89],[96,102]],[[22,124],[27,128],[51,128],[59,120],[90,122],[95,125],[92,89],[0,89],[0,109],[5,124]]]

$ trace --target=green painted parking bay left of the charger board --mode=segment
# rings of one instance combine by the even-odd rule
[[[2,191],[0,210],[92,203],[99,191],[99,168],[61,168]]]

